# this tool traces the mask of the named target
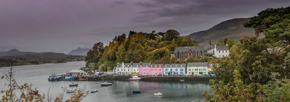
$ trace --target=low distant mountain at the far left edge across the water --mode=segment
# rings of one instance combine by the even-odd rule
[[[37,54],[37,52],[21,52],[19,50],[12,49],[7,52],[0,52],[0,57],[17,56],[17,55],[25,55],[25,54]]]

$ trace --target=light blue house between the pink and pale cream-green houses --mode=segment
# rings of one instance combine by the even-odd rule
[[[185,73],[185,63],[165,63],[163,65],[163,74],[170,75],[170,74],[186,74]]]

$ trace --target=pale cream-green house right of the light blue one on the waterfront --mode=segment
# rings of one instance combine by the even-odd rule
[[[188,63],[186,74],[208,74],[208,63]]]

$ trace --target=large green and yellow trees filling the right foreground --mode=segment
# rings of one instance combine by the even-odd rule
[[[230,45],[230,57],[214,68],[208,101],[290,101],[290,7],[269,8],[244,23],[255,37]],[[258,40],[260,34],[264,38]]]

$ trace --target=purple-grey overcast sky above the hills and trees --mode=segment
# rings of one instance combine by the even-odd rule
[[[290,6],[289,0],[2,0],[0,52],[69,53],[116,35],[166,32],[181,35],[208,30],[266,8]]]

